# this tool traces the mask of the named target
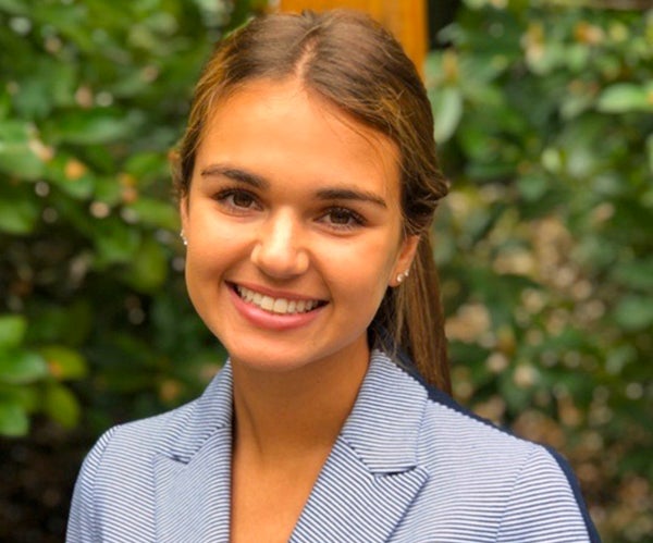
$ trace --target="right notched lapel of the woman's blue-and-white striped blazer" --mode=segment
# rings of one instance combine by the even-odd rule
[[[427,393],[374,351],[292,542],[385,542],[428,480],[417,441]]]

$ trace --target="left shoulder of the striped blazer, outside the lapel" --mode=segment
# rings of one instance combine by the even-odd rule
[[[199,398],[104,432],[77,477],[66,541],[99,541],[97,527],[109,523],[120,533],[121,519],[143,528],[139,541],[153,541],[148,530],[155,526],[157,462],[188,462],[218,429],[231,428],[231,398],[225,367]]]

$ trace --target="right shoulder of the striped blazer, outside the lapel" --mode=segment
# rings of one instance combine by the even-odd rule
[[[480,418],[410,367],[402,371],[408,388],[424,393],[417,447],[429,477],[406,526],[432,527],[440,518],[442,528],[451,516],[458,519],[452,526],[460,541],[532,541],[544,534],[546,541],[600,541],[559,454]]]

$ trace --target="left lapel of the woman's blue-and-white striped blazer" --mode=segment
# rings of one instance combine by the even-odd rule
[[[229,541],[231,384],[227,365],[155,458],[158,543]]]

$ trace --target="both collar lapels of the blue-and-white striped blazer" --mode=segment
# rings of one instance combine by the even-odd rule
[[[293,542],[386,541],[428,480],[417,442],[426,390],[374,350],[355,406]],[[232,373],[227,363],[155,459],[157,541],[229,541]]]

